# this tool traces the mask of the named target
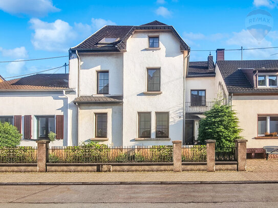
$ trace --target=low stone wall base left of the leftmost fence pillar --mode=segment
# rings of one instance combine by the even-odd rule
[[[0,164],[0,172],[37,172],[37,164]]]

